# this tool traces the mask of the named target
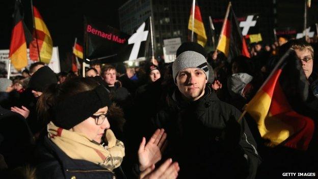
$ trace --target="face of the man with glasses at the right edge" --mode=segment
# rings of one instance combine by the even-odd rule
[[[312,73],[313,59],[311,53],[308,49],[300,51],[299,49],[295,50],[298,59],[302,64],[302,68],[305,72],[306,78],[308,79]],[[306,62],[307,61],[307,62]]]

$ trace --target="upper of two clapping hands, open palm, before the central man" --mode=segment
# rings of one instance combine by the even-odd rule
[[[143,137],[138,149],[139,169],[144,171],[161,160],[161,151],[163,143],[167,138],[164,129],[157,129],[150,140],[146,144],[146,139]]]

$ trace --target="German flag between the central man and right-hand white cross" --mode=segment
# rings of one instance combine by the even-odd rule
[[[246,41],[242,36],[231,2],[227,7],[217,49],[223,52],[228,60],[240,55],[250,58]]]

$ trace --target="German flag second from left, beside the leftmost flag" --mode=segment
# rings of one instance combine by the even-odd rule
[[[33,6],[35,29],[30,43],[30,59],[48,64],[52,57],[53,42],[38,9]],[[40,54],[40,58],[39,58]]]

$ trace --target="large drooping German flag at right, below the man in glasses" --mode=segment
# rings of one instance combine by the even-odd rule
[[[256,121],[260,136],[270,141],[268,146],[283,145],[306,150],[313,135],[314,123],[289,105],[279,82],[281,72],[282,68],[275,71],[245,110]]]

